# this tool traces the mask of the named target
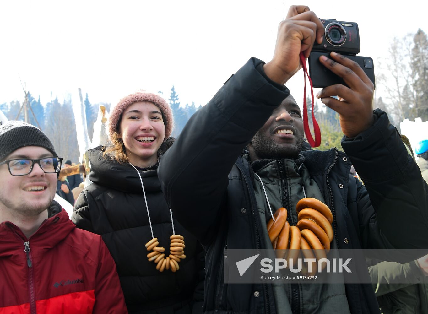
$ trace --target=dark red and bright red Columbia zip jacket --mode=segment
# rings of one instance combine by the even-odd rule
[[[29,239],[0,223],[0,314],[128,313],[101,237],[77,229],[56,202]]]

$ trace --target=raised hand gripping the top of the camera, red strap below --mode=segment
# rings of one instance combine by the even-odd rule
[[[279,23],[275,51],[263,66],[268,77],[285,84],[300,69],[300,52],[309,57],[315,39],[321,44],[324,25],[307,6],[291,6],[287,17]]]

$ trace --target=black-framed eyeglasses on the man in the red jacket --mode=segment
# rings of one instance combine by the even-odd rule
[[[45,173],[56,173],[61,170],[60,157],[46,157],[40,159],[10,159],[5,160],[0,165],[7,164],[11,175],[28,175],[32,170],[34,163],[37,163]]]

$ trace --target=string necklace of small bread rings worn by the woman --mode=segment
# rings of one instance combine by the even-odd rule
[[[171,243],[169,244],[169,256],[165,258],[165,248],[162,246],[158,246],[158,238],[155,238],[155,236],[153,235],[152,221],[150,220],[149,206],[147,205],[146,191],[144,190],[143,179],[141,178],[138,169],[132,163],[129,164],[134,167],[135,171],[137,171],[138,176],[140,177],[144,201],[146,202],[147,216],[149,216],[149,225],[150,231],[152,232],[152,240],[145,244],[147,251],[149,251],[149,254],[147,254],[147,258],[149,259],[149,262],[155,262],[156,269],[159,270],[161,273],[164,270],[171,270],[172,273],[175,273],[177,270],[180,269],[178,263],[182,259],[186,258],[186,255],[184,255],[184,248],[186,247],[184,245],[184,237],[179,234],[175,234],[174,222],[172,220],[172,211],[171,209],[169,209],[169,214],[171,216],[172,235],[169,237],[169,240],[171,240]]]

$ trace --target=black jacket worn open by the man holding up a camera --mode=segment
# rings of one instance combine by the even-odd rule
[[[270,284],[223,281],[224,249],[267,249],[254,172],[239,157],[288,96],[266,80],[262,65],[250,59],[230,78],[190,118],[160,163],[172,211],[205,245],[205,313],[277,313]],[[374,116],[372,127],[342,141],[347,155],[337,149],[302,152],[332,209],[334,241],[339,249],[428,248],[428,186],[386,113],[375,110]],[[350,175],[351,162],[366,187]],[[359,275],[369,280],[368,271]],[[345,290],[352,314],[379,313],[370,284],[345,284]]]

